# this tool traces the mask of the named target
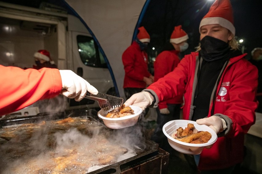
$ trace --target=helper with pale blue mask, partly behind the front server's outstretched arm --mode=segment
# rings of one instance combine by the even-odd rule
[[[162,51],[156,58],[154,63],[154,81],[164,77],[177,67],[180,62],[179,53],[188,48],[187,33],[182,29],[182,26],[175,26],[171,36],[171,50]],[[159,147],[168,151],[170,156],[174,149],[169,146],[167,138],[163,133],[163,126],[171,120],[180,119],[181,104],[183,103],[183,95],[158,103],[157,107],[157,127],[151,137],[151,140],[159,144]]]

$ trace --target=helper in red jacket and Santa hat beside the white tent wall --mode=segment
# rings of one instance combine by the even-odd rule
[[[122,61],[125,69],[124,92],[128,99],[134,93],[141,92],[154,81],[148,71],[148,57],[146,49],[150,36],[145,27],[139,27],[137,39],[124,51]]]

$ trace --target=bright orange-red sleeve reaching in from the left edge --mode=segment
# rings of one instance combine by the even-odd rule
[[[58,69],[23,70],[0,65],[0,115],[25,108],[34,102],[57,96],[62,89]]]

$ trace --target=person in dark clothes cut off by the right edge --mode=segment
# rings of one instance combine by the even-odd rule
[[[257,47],[251,51],[252,59],[249,61],[258,69],[258,87],[256,99],[259,102],[256,112],[262,113],[262,48]]]

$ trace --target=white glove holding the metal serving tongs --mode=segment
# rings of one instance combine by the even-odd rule
[[[95,87],[90,85],[85,79],[81,78],[71,70],[59,70],[62,79],[61,94],[80,101],[85,97],[88,91],[91,94],[97,94]]]

